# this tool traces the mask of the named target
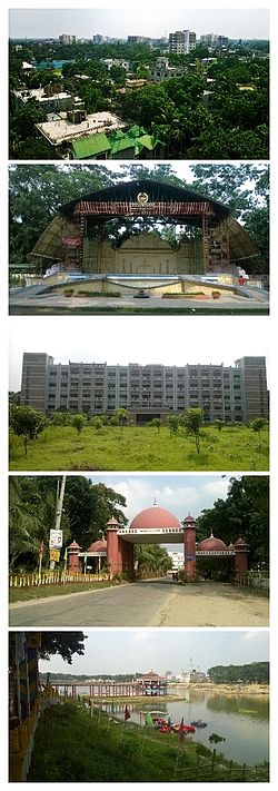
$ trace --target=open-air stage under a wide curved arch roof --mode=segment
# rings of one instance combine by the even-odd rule
[[[111,241],[107,223],[125,219],[129,228]],[[171,245],[156,233],[156,221],[182,226],[182,240]],[[141,285],[138,278],[148,288],[187,277],[216,281],[257,255],[227,206],[187,186],[151,179],[123,181],[61,206],[30,253],[41,271],[59,270],[57,283],[71,274],[87,280],[112,277],[113,284],[131,288]]]

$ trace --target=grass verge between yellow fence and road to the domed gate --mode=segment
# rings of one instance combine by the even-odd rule
[[[66,596],[69,593],[87,593],[87,591],[99,591],[102,587],[113,587],[119,583],[103,582],[75,582],[61,585],[36,585],[31,587],[10,587],[10,604],[14,602],[29,602],[32,599],[48,599],[49,596]]]

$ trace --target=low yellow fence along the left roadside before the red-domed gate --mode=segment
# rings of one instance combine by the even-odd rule
[[[37,585],[64,585],[75,582],[101,582],[109,580],[108,574],[82,574],[69,571],[32,572],[31,574],[10,574],[10,587],[36,587]]]

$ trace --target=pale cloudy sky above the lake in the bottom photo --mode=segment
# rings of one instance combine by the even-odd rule
[[[117,673],[163,674],[193,668],[206,672],[219,664],[268,661],[267,630],[85,630],[85,656],[73,655],[69,665],[60,656],[40,661],[42,673],[86,675]],[[111,650],[112,646],[112,650]]]

